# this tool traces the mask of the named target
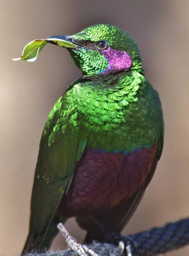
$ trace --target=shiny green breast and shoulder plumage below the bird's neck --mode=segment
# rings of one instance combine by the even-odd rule
[[[76,81],[52,109],[44,128],[49,145],[53,144],[59,128],[64,133],[68,120],[72,126],[79,127],[79,137],[87,140],[87,146],[106,152],[131,152],[143,146],[151,147],[158,140],[162,116],[154,116],[154,112],[161,111],[161,105],[157,92],[144,76],[129,71],[110,79],[103,76],[87,79]],[[159,104],[153,106],[153,102]],[[60,118],[57,113],[61,113]],[[52,119],[56,119],[53,129]]]

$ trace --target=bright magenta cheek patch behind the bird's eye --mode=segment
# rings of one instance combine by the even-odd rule
[[[125,51],[118,51],[109,47],[106,50],[102,50],[101,54],[108,60],[108,67],[101,74],[116,73],[122,70],[127,71],[133,64],[131,56]]]

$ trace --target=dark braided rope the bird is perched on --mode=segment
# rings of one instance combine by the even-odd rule
[[[150,230],[129,235],[137,242],[137,251],[133,256],[153,256],[166,253],[189,244],[189,218],[154,227]],[[99,256],[119,256],[120,249],[114,244],[97,243],[87,244],[87,247]],[[132,247],[134,251],[134,247]],[[26,253],[26,256],[76,256],[73,250],[51,250],[43,253]]]

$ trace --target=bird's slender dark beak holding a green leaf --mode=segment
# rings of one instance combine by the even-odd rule
[[[71,35],[52,35],[46,38],[45,41],[50,44],[55,44],[60,47],[69,48],[69,49],[86,48],[81,44],[74,42]]]

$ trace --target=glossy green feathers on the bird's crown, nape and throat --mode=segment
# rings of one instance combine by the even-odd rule
[[[98,42],[100,40],[108,41],[108,44],[113,49],[119,49],[120,51],[125,51],[131,55],[134,65],[132,70],[137,70],[139,73],[144,73],[142,68],[142,60],[140,58],[140,53],[136,42],[128,35],[123,32],[122,29],[112,26],[110,24],[99,24],[90,26],[76,35],[73,35],[74,41],[82,41],[84,45],[88,42]],[[99,52],[93,51],[86,53],[82,50],[83,54],[73,50],[71,56],[76,65],[81,68],[81,70],[86,75],[91,75],[98,73],[106,68],[107,60],[103,58]],[[77,57],[78,56],[78,57]]]

